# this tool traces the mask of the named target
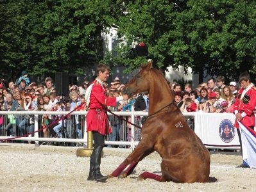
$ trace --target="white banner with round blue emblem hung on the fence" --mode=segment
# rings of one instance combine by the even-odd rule
[[[196,113],[194,132],[203,144],[240,145],[234,122],[235,115],[232,113]]]

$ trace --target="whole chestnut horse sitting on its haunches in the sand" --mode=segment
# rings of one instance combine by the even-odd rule
[[[127,177],[139,161],[157,151],[162,157],[162,175],[144,172],[138,180],[150,178],[161,182],[209,182],[210,153],[187,125],[182,112],[173,102],[174,93],[166,78],[162,72],[152,68],[151,62],[126,84],[123,92],[131,97],[146,91],[150,97],[149,116],[142,125],[142,139],[108,178]]]

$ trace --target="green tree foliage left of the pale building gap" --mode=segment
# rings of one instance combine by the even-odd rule
[[[101,33],[115,23],[112,1],[10,0],[1,5],[1,74],[82,74],[103,59]]]

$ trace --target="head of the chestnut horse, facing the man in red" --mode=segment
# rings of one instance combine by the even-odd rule
[[[123,88],[122,93],[127,94],[128,97],[132,97],[132,95],[135,95],[136,93],[148,91],[150,80],[153,80],[150,76],[151,68],[151,61],[148,62],[148,65],[142,66],[139,73],[137,73],[135,77],[133,77],[133,79]]]

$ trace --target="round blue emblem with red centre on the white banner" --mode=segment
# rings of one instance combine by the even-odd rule
[[[229,143],[234,139],[235,128],[234,124],[230,120],[222,120],[222,122],[219,124],[219,137],[225,143]]]

